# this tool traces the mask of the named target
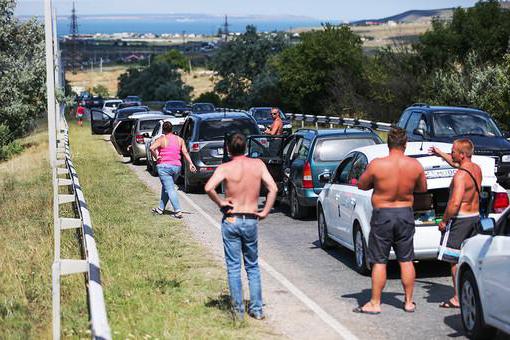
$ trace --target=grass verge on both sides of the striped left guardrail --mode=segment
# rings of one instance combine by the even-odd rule
[[[90,129],[71,128],[71,149],[98,244],[114,338],[231,339],[278,337],[265,323],[232,320],[224,268],[186,227],[152,216],[157,197]],[[47,134],[0,163],[0,339],[51,338],[53,260]],[[69,214],[71,210],[62,209]],[[62,258],[79,256],[73,231]],[[82,275],[62,278],[62,333],[89,338]]]

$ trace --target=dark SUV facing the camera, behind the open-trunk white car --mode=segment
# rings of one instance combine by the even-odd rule
[[[397,125],[407,131],[409,141],[452,143],[459,138],[470,139],[476,155],[495,159],[498,182],[510,186],[510,142],[487,112],[414,104],[404,110]]]

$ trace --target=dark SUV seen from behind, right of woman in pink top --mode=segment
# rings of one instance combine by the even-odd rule
[[[213,112],[188,116],[180,135],[186,142],[197,172],[190,172],[189,164],[183,160],[184,191],[197,191],[212,176],[223,159],[225,135],[236,132],[246,136],[260,134],[257,122],[246,112]]]

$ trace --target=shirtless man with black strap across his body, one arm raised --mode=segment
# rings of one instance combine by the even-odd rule
[[[442,233],[439,259],[450,263],[454,288],[453,297],[439,305],[442,308],[459,308],[455,279],[460,248],[462,242],[474,236],[480,228],[482,170],[471,161],[473,151],[474,146],[469,139],[454,141],[451,154],[436,147],[429,150],[431,154],[443,158],[458,169],[450,184],[450,198],[446,211],[439,223],[439,230]]]

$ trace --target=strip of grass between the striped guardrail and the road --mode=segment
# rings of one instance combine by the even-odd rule
[[[181,222],[150,213],[157,197],[119,161],[109,142],[74,125],[70,140],[91,210],[114,337],[273,335],[264,323],[232,321],[224,268]]]

